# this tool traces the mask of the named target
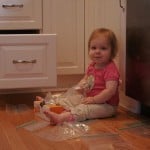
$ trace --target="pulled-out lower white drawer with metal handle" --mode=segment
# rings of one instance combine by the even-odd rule
[[[0,35],[0,89],[56,86],[56,35]]]

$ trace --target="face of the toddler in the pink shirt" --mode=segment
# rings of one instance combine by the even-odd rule
[[[91,40],[89,57],[97,65],[105,66],[111,59],[111,45],[105,36],[98,36]]]

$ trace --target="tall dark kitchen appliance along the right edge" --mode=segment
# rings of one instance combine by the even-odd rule
[[[150,0],[127,0],[126,95],[150,116]]]

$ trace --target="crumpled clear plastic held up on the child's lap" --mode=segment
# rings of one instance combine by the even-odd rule
[[[86,96],[86,92],[91,90],[94,85],[93,76],[89,76],[87,79],[81,80],[77,85],[69,88],[64,93],[54,94],[48,92],[44,98],[45,104],[56,104],[64,105],[66,109],[67,106],[78,105],[82,99]]]

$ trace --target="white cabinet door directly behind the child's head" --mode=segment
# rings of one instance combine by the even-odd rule
[[[91,32],[96,28],[109,28],[113,30],[120,43],[121,8],[119,0],[86,0],[85,1],[85,59],[89,63],[87,43]],[[119,66],[119,53],[115,59]]]

